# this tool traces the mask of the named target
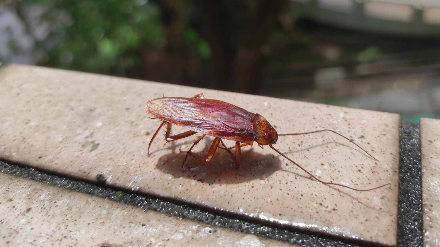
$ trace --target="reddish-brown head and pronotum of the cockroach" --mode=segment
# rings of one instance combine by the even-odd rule
[[[255,141],[260,145],[275,144],[278,140],[278,133],[272,125],[260,114],[255,114],[252,119],[255,131]]]

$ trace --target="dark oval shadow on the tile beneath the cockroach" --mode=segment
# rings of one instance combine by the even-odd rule
[[[202,148],[199,148],[197,153],[206,154],[210,141],[212,140],[205,141],[206,144],[201,143],[199,147]],[[282,161],[278,156],[271,152],[261,154],[255,152],[254,148],[259,149],[259,147],[246,147],[242,150],[242,163],[239,168],[236,168],[234,160],[226,150],[219,149],[209,163],[189,157],[185,164],[185,167],[190,168],[187,171],[180,168],[185,154],[171,147],[172,153],[158,158],[156,168],[175,178],[196,179],[209,184],[234,184],[266,179],[281,168]]]

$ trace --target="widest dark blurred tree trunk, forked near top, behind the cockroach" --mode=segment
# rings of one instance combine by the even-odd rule
[[[262,0],[247,29],[231,44],[230,17],[224,1],[198,1],[205,19],[205,36],[212,51],[214,81],[218,89],[254,93],[264,76],[264,57],[285,0]],[[287,6],[287,4],[286,4]],[[251,7],[249,7],[251,8]],[[252,10],[248,10],[252,11]],[[233,27],[232,27],[233,28]]]

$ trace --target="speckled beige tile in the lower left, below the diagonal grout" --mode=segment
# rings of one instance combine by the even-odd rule
[[[0,172],[1,246],[295,246]]]

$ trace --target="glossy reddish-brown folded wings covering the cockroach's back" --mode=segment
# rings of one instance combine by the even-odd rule
[[[145,110],[156,118],[208,136],[252,142],[254,113],[220,100],[163,97],[148,101]]]

